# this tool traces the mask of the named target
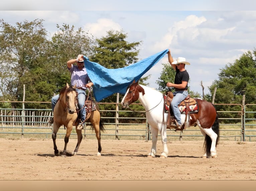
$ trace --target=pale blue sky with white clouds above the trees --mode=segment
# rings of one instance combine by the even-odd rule
[[[193,1],[192,4],[161,0],[157,3],[63,0],[48,4],[44,1],[45,5],[40,7],[35,1],[25,1],[29,5],[22,2],[1,3],[0,18],[12,25],[43,19],[44,27],[51,34],[57,30],[57,24],[63,23],[89,30],[97,38],[105,36],[108,30],[123,30],[128,42],[142,41],[140,60],[170,48],[174,59],[185,57],[190,62],[185,67],[190,76],[190,90],[201,95],[201,81],[205,93],[209,93],[207,87],[218,80],[220,69],[256,47],[256,11],[248,11],[255,3],[246,0],[242,5],[233,1],[215,1],[215,4]],[[150,87],[157,88],[155,81],[160,77],[162,63],[167,62],[166,55],[145,74],[151,74],[147,81]]]

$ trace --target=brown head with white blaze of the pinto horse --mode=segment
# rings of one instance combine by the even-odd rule
[[[138,82],[136,83],[133,81],[133,83],[127,87],[126,94],[121,101],[122,106],[128,107],[130,104],[137,101],[139,99],[140,92],[142,92],[142,95],[145,94],[144,89],[138,85]]]

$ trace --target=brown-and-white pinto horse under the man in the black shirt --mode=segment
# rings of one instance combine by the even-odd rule
[[[190,114],[188,124],[190,126],[198,125],[201,133],[205,136],[203,158],[216,158],[216,146],[219,141],[219,121],[214,105],[206,100],[195,98],[198,104],[198,112]],[[155,157],[156,142],[158,131],[160,132],[163,152],[161,158],[168,157],[166,125],[168,113],[163,112],[164,98],[163,94],[146,86],[139,85],[135,81],[127,88],[121,104],[125,108],[129,108],[129,104],[139,100],[146,111],[146,118],[152,133],[152,148],[149,157]],[[181,114],[182,125],[185,122],[185,114]],[[163,126],[165,126],[163,128]]]

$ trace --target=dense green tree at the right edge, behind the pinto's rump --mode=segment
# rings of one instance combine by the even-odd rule
[[[219,80],[215,80],[210,86],[213,95],[215,87],[215,103],[242,104],[245,95],[245,104],[256,103],[256,50],[244,53],[234,63],[229,63],[221,69]],[[241,110],[241,106],[216,106],[218,110]],[[256,109],[255,107],[253,108]],[[251,114],[252,115],[252,114]],[[222,117],[235,117],[235,114],[222,114]],[[255,117],[255,116],[254,116]]]

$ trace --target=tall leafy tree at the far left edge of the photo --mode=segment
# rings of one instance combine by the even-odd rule
[[[30,75],[44,60],[48,47],[47,32],[43,20],[24,21],[11,26],[0,20],[0,79],[1,94],[5,99],[21,101],[23,84],[34,85],[37,78]],[[29,94],[29,92],[27,92]],[[17,107],[12,103],[12,107]]]

